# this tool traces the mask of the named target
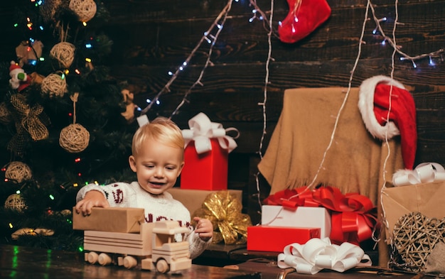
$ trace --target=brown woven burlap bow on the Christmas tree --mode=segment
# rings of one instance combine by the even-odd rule
[[[8,149],[21,155],[25,141],[23,132],[28,132],[34,141],[48,138],[49,132],[45,124],[49,124],[50,121],[48,116],[43,113],[43,106],[35,104],[30,107],[29,104],[26,104],[26,97],[22,94],[13,94],[11,104],[16,109],[17,134],[9,142]]]

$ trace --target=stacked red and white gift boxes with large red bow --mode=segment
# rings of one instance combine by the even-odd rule
[[[247,228],[247,250],[282,252],[289,244],[329,238],[333,244],[372,237],[377,223],[368,197],[341,194],[335,187],[284,190],[264,199],[262,225]]]

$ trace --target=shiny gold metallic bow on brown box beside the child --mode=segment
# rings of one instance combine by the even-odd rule
[[[209,219],[213,224],[213,243],[245,244],[247,226],[252,221],[241,213],[242,204],[229,191],[213,192],[208,195],[193,216]]]

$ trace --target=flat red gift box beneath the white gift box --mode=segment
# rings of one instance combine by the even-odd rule
[[[293,228],[290,226],[248,226],[247,250],[283,252],[289,244],[306,244],[320,238],[320,228]]]

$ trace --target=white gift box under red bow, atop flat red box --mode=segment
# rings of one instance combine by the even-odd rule
[[[331,215],[324,207],[297,207],[296,210],[292,210],[281,205],[263,205],[261,224],[320,228],[321,239],[331,235]]]

